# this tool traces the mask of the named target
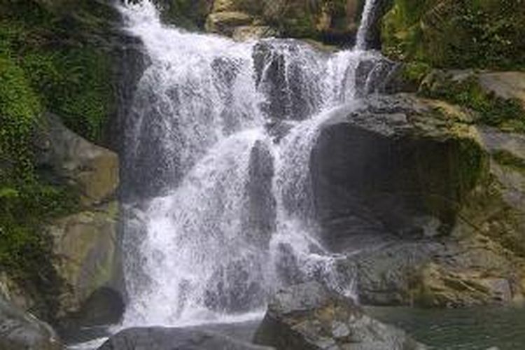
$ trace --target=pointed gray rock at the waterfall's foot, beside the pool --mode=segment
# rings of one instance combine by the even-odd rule
[[[276,349],[425,349],[405,332],[364,314],[353,300],[310,282],[279,290],[255,334]]]

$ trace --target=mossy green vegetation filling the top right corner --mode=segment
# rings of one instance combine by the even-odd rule
[[[525,69],[523,0],[394,0],[384,53],[433,67]]]

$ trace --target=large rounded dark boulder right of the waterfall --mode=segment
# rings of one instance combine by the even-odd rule
[[[451,232],[484,153],[472,127],[445,118],[412,98],[370,97],[321,126],[310,169],[328,246],[346,248],[355,235]]]

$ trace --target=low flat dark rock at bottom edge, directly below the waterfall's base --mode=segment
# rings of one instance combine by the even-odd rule
[[[129,328],[118,332],[99,350],[269,350],[218,335],[189,328]]]

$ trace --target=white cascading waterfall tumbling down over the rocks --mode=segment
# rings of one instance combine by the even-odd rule
[[[377,55],[190,34],[161,25],[149,1],[121,10],[151,60],[127,120],[124,325],[246,314],[304,279],[353,293],[318,242],[309,155]]]

